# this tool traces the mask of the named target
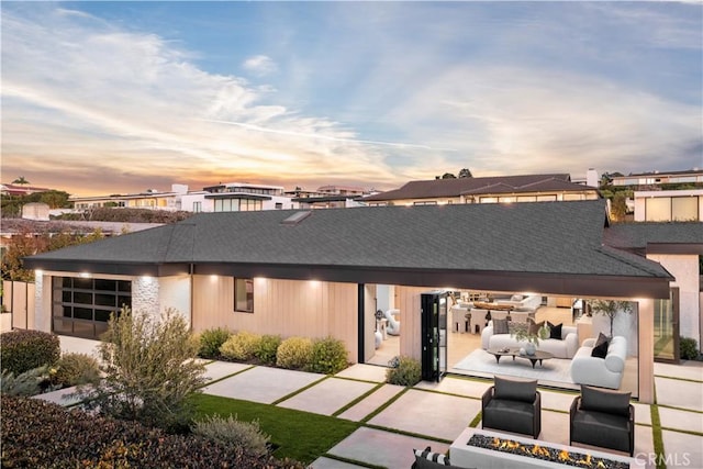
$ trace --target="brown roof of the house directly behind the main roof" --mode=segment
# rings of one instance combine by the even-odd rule
[[[410,181],[400,189],[367,196],[361,200],[376,202],[401,199],[459,197],[460,194],[524,193],[554,190],[580,192],[584,190],[595,190],[595,188],[571,182],[570,176],[567,174],[495,176],[486,178]]]

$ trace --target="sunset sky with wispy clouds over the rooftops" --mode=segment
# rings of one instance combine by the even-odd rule
[[[702,2],[12,2],[1,178],[74,196],[703,168]]]

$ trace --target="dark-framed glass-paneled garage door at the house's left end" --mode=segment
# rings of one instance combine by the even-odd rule
[[[60,334],[99,337],[111,313],[132,308],[129,280],[55,277],[52,293],[53,327]]]

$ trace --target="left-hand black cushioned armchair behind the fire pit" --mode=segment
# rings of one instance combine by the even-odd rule
[[[521,433],[537,438],[542,432],[542,394],[537,380],[493,378],[481,398],[482,428]]]

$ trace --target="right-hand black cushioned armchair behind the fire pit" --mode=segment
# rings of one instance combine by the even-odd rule
[[[569,444],[600,446],[633,456],[635,451],[635,407],[629,392],[581,387],[569,410]]]

